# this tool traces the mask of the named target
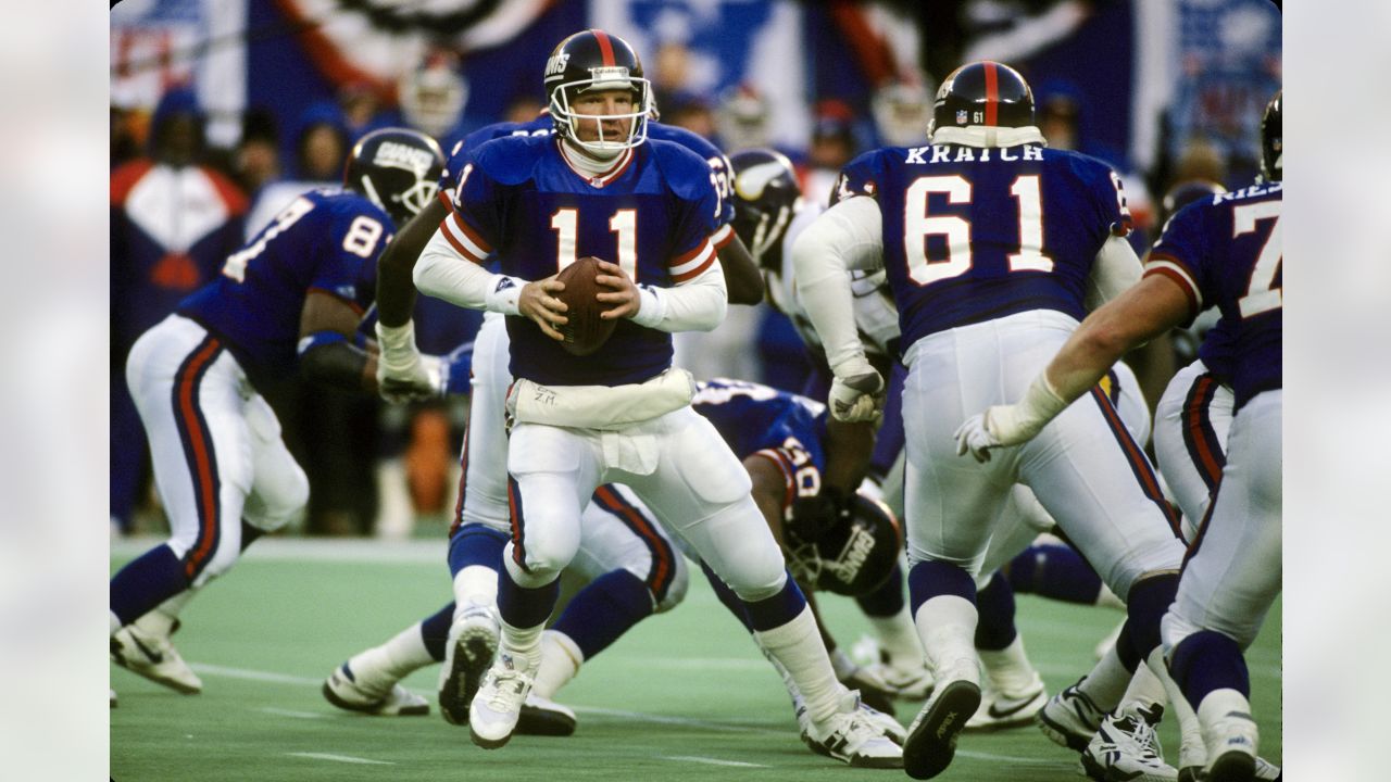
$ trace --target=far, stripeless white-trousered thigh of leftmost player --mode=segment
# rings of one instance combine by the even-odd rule
[[[252,491],[242,518],[256,529],[275,532],[303,512],[309,477],[285,448],[270,404],[252,392],[242,410],[252,436]]]

